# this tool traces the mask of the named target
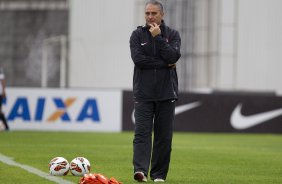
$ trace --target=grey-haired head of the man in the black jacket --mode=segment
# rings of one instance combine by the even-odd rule
[[[163,16],[164,13],[161,11],[158,5],[147,4],[145,8],[145,20],[148,25],[153,23],[160,25]]]

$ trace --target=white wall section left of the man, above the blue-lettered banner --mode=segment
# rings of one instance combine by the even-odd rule
[[[133,3],[71,0],[70,87],[131,88]]]

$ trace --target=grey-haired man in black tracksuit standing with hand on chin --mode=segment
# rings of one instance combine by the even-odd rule
[[[180,58],[179,33],[165,25],[163,5],[155,0],[145,6],[144,26],[130,37],[134,62],[133,93],[135,135],[134,179],[164,182],[170,163],[175,101],[178,98],[176,62]],[[152,147],[152,131],[154,140]]]

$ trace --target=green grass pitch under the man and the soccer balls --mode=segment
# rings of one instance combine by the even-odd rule
[[[71,161],[83,156],[91,172],[132,184],[137,183],[132,179],[132,138],[132,132],[0,132],[0,154],[46,175],[53,157]],[[78,183],[80,177],[69,173],[60,178]],[[0,162],[0,183],[53,182]],[[282,183],[282,135],[175,133],[166,183]]]

